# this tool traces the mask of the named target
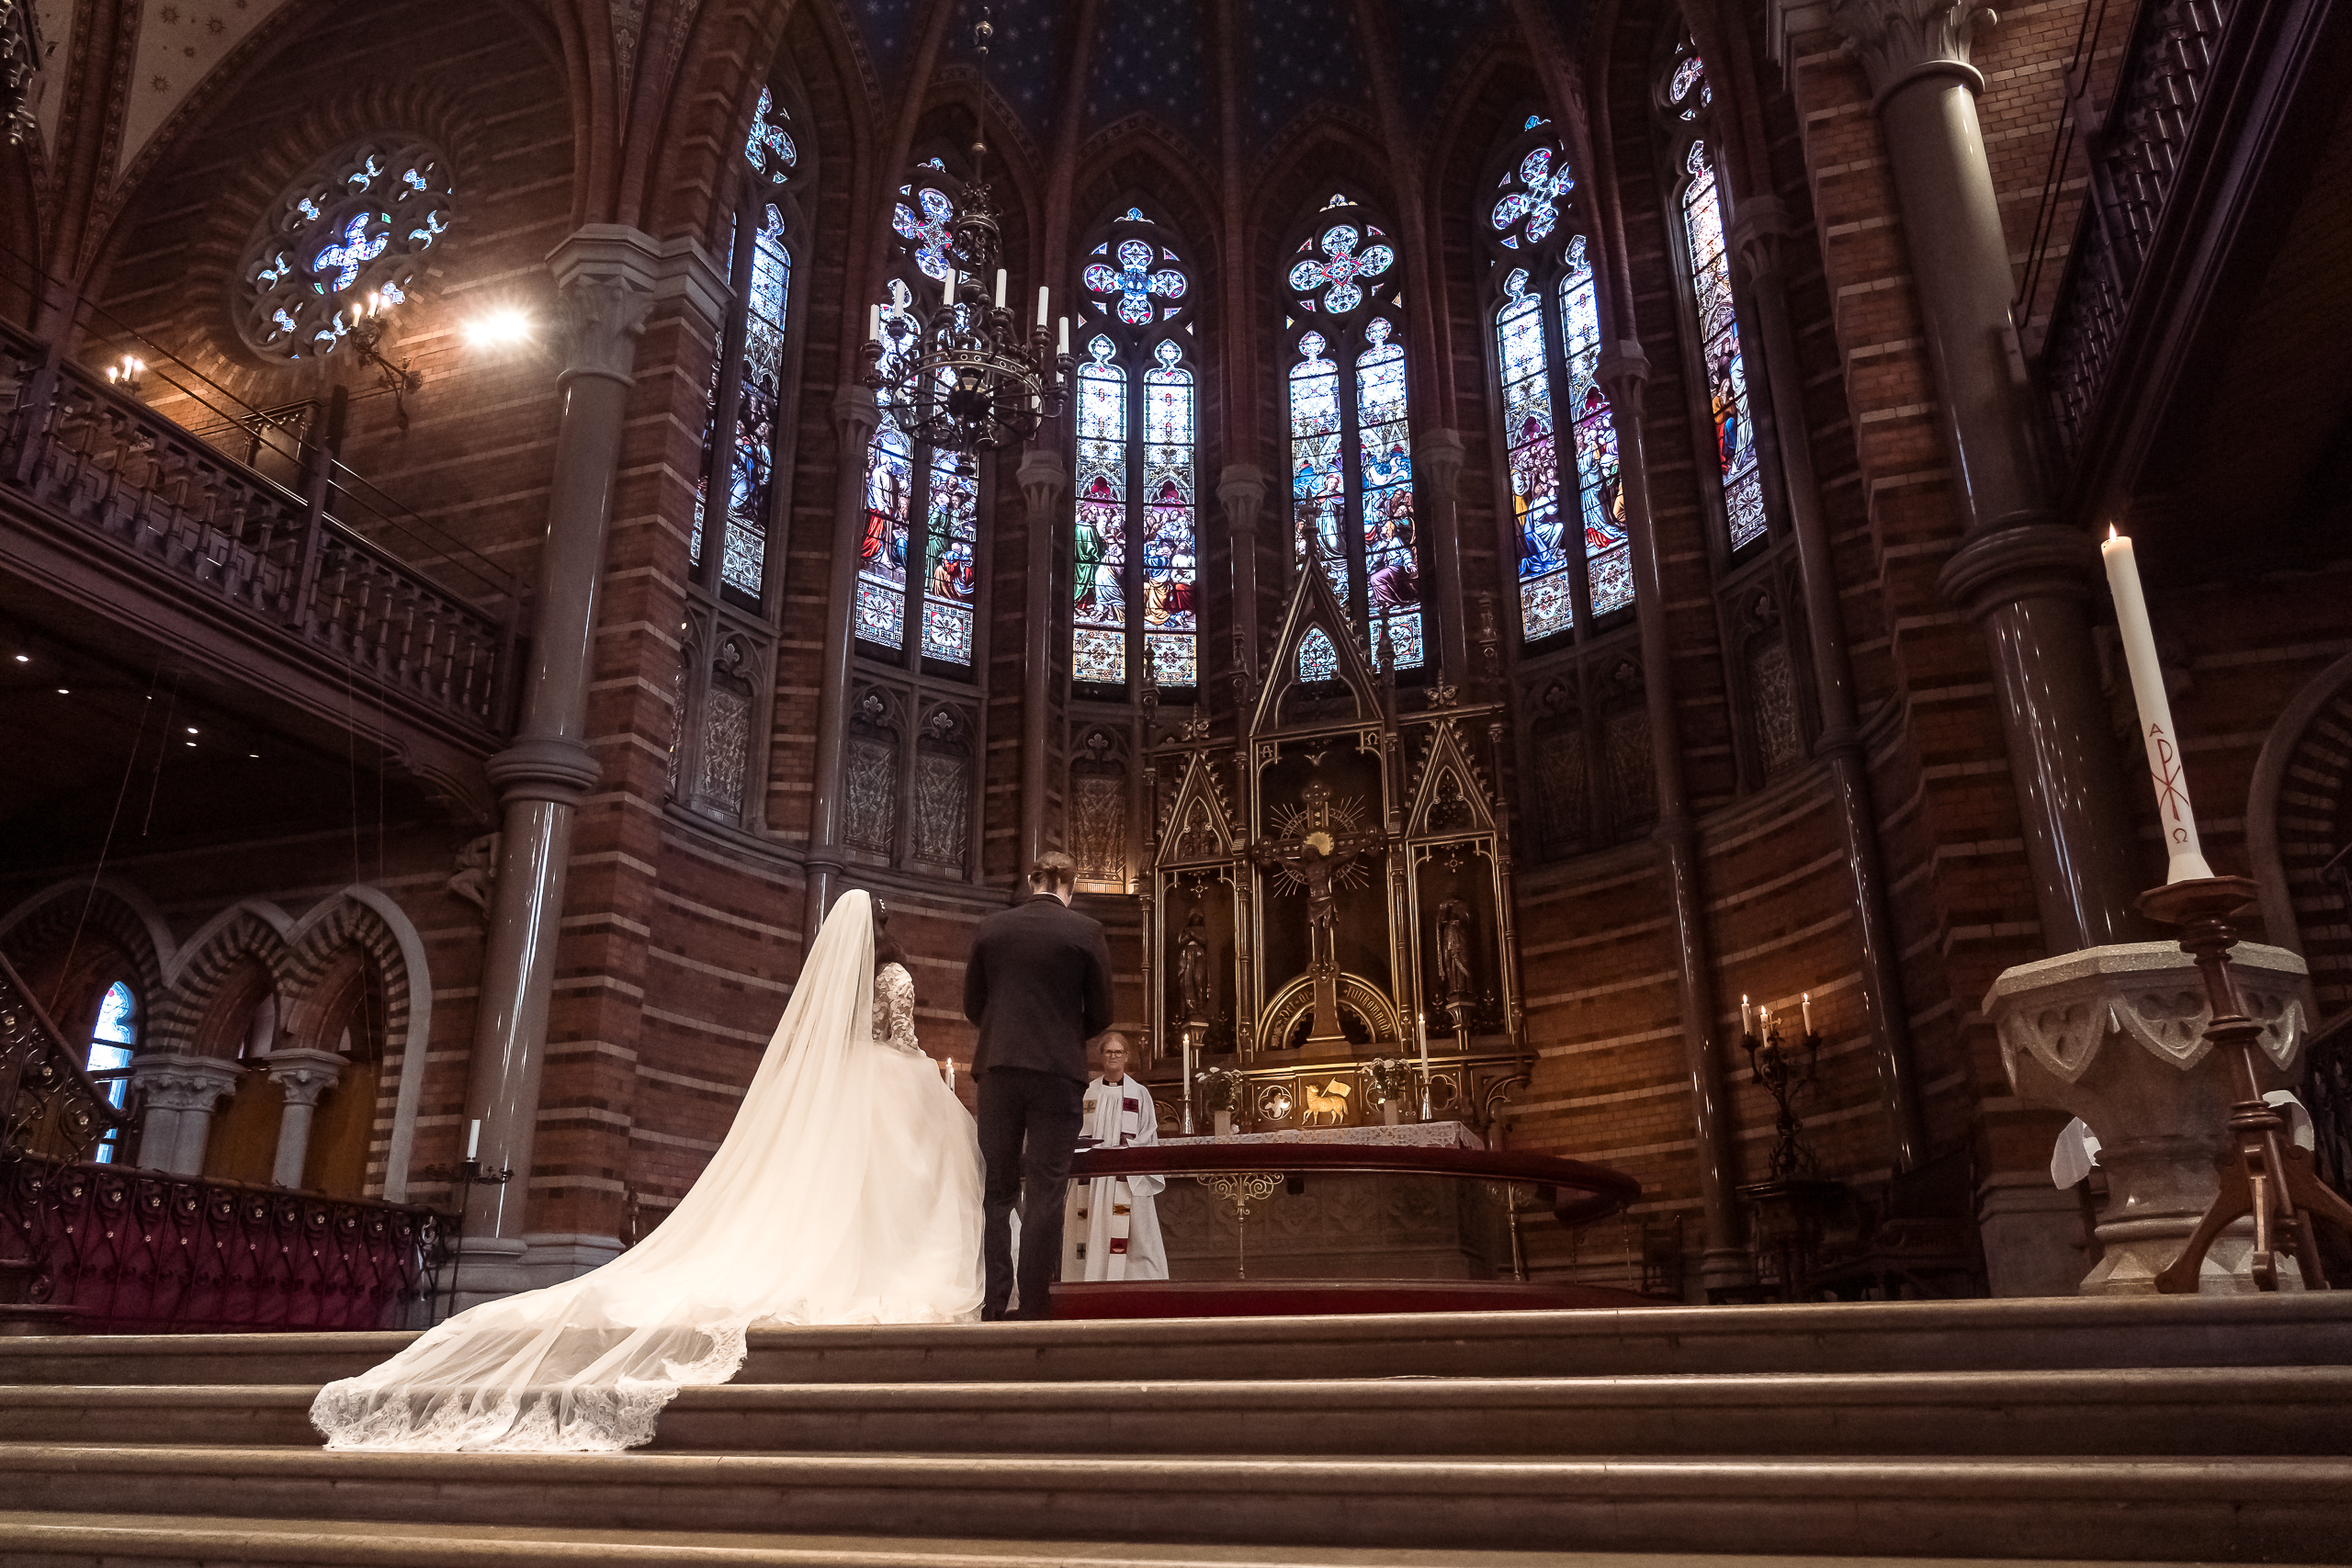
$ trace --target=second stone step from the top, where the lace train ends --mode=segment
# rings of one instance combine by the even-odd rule
[[[0,1387],[19,1443],[315,1446],[313,1385]],[[684,1389],[654,1450],[2352,1455],[2352,1368]]]

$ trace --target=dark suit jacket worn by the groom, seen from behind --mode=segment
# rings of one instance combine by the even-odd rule
[[[964,966],[964,1018],[981,1025],[971,1077],[1030,1067],[1087,1081],[1087,1041],[1110,1027],[1103,926],[1035,893],[981,922]]]

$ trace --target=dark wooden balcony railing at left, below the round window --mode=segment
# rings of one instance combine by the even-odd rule
[[[301,491],[0,324],[0,484],[181,592],[501,731],[517,668],[513,578],[477,571],[477,595],[452,592],[353,527],[362,487],[322,447],[299,442],[296,461]]]

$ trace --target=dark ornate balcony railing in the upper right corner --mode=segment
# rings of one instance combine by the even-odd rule
[[[2100,125],[2091,193],[2051,303],[2042,381],[2067,461],[2082,449],[2164,205],[2206,103],[2223,31],[2244,0],[2145,0]],[[2077,99],[2074,113],[2084,113]]]

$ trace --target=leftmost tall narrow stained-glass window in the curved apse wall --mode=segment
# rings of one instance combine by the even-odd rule
[[[743,158],[750,172],[729,216],[727,249],[734,308],[720,327],[710,364],[710,414],[687,555],[699,578],[710,571],[703,557],[715,555],[720,590],[757,609],[767,592],[783,388],[790,381],[783,362],[797,244],[790,190],[800,172],[790,118],[767,87],[760,89]]]

